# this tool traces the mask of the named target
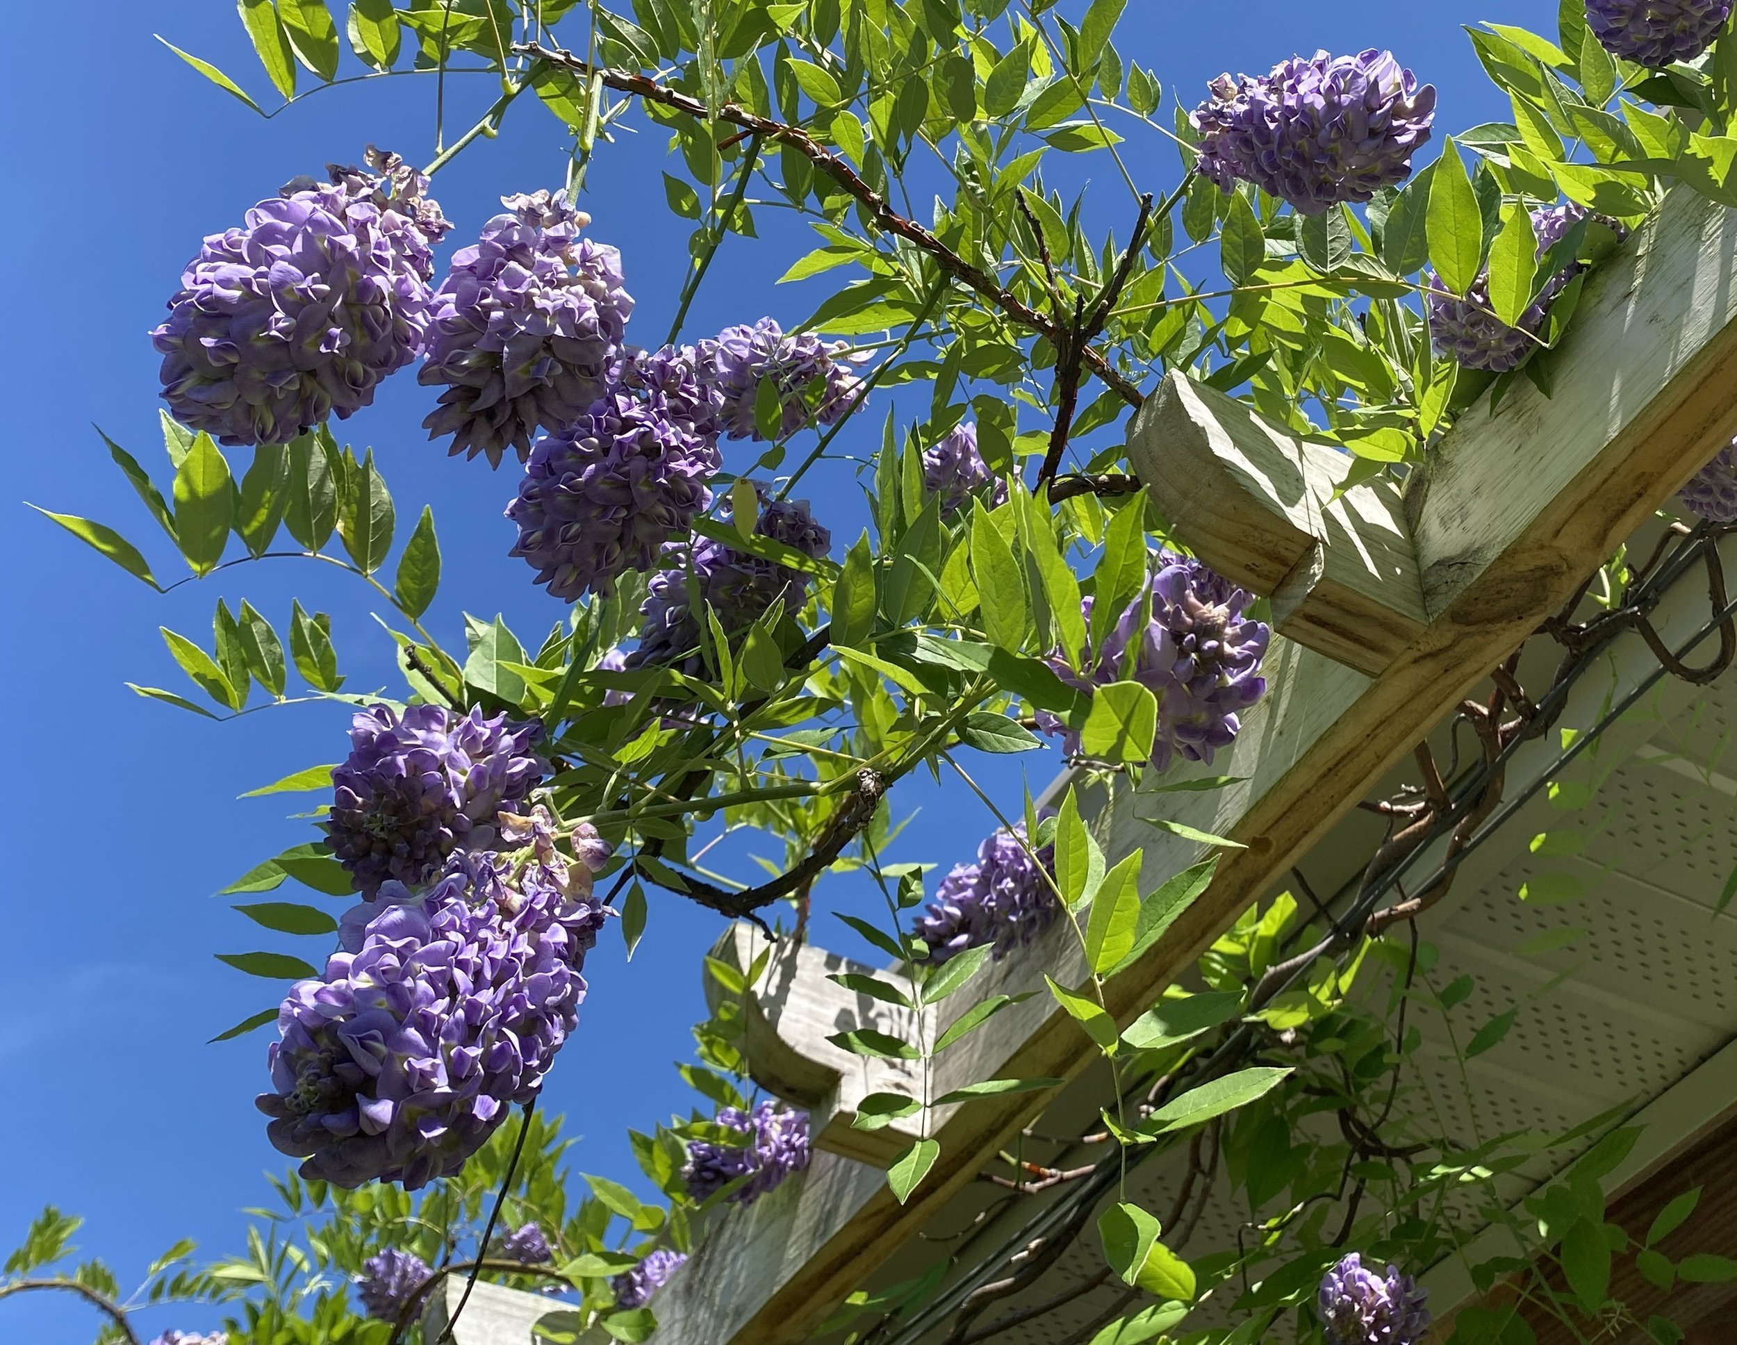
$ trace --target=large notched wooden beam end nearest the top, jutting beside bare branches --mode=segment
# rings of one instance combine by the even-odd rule
[[[1134,419],[1129,457],[1195,554],[1273,600],[1273,626],[1376,676],[1424,627],[1397,487],[1346,488],[1351,459],[1306,443],[1183,374]]]

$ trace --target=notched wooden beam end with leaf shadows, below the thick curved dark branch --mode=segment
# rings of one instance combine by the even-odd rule
[[[924,1116],[877,1130],[858,1130],[860,1103],[870,1093],[922,1097],[921,1062],[856,1055],[830,1041],[842,1032],[882,1032],[919,1041],[919,1025],[933,1039],[931,1022],[919,1024],[919,1011],[888,1004],[830,980],[830,975],[872,977],[875,970],[827,952],[811,944],[782,938],[769,944],[745,921],[731,924],[712,949],[712,957],[743,977],[754,959],[771,954],[759,980],[742,996],[705,975],[705,999],[716,1013],[726,999],[742,1004],[742,1055],[747,1072],[761,1088],[809,1114],[816,1149],[841,1157],[891,1166],[912,1140],[921,1138]]]

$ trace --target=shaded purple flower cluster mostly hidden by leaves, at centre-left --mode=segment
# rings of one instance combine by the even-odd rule
[[[815,560],[832,546],[832,533],[815,521],[808,500],[775,500],[764,492],[754,532]],[[808,573],[794,566],[710,537],[667,546],[664,568],[651,575],[646,601],[639,608],[644,617],[639,648],[627,655],[627,667],[674,664],[686,672],[703,671],[703,659],[697,652],[702,641],[690,582],[730,638],[740,636],[768,608],[782,605],[794,615],[808,600]]]

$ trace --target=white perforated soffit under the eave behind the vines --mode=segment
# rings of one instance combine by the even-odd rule
[[[1695,582],[1680,584],[1668,600],[1676,601],[1680,631],[1706,620],[1704,589],[1699,594],[1695,589]],[[1711,643],[1695,662],[1709,653]],[[1527,685],[1548,685],[1553,660],[1555,655],[1541,653],[1536,667],[1529,662]],[[1556,758],[1560,730],[1595,723],[1612,686],[1633,685],[1648,660],[1638,639],[1619,641],[1605,655],[1608,667],[1579,683],[1548,740],[1522,749],[1509,770],[1508,796],[1516,796]],[[1737,905],[1720,916],[1713,911],[1725,879],[1737,869],[1734,726],[1737,674],[1711,688],[1662,681],[1607,730],[1596,758],[1582,758],[1570,770],[1570,785],[1593,775],[1600,780],[1586,808],[1562,806],[1572,801],[1572,787],[1556,799],[1539,792],[1463,865],[1452,895],[1421,921],[1423,937],[1440,952],[1431,978],[1438,987],[1463,975],[1475,982],[1452,1015],[1461,1043],[1497,1013],[1513,1006],[1520,1013],[1501,1044],[1468,1063],[1464,1081],[1442,1020],[1414,1015],[1423,1050],[1417,1053],[1421,1069],[1410,1077],[1409,1105],[1436,1109],[1454,1135],[1473,1142],[1473,1136],[1518,1128],[1560,1131],[1614,1107],[1633,1110],[1650,1102],[1654,1109],[1647,1116],[1664,1119],[1650,1128],[1617,1175],[1621,1178],[1737,1100],[1737,1050],[1707,1065],[1737,1039],[1737,978],[1732,975]],[[1445,761],[1445,737],[1438,751]],[[1405,779],[1405,772],[1397,772],[1372,796],[1384,796]],[[1579,853],[1553,853],[1551,843],[1534,853],[1536,836],[1562,836],[1569,829],[1584,841]],[[1379,820],[1355,813],[1299,867],[1310,886],[1329,898],[1362,871],[1377,839]],[[1518,897],[1529,883],[1536,893],[1537,879],[1546,874],[1572,876],[1584,895],[1555,905],[1536,895],[1530,900]],[[1541,951],[1569,930],[1582,933],[1555,951]],[[1079,1166],[1101,1154],[1101,1149],[1068,1147],[1044,1136],[1089,1130],[1108,1095],[1105,1084],[1105,1076],[1098,1074],[1072,1086],[1034,1126],[1035,1136],[1025,1142],[1021,1157]],[[1562,1163],[1558,1154],[1515,1173],[1504,1196],[1518,1199]],[[1181,1152],[1136,1168],[1127,1199],[1167,1216],[1183,1169]],[[1044,1199],[1009,1201],[1007,1192],[988,1182],[974,1183],[922,1237],[900,1251],[881,1282],[921,1274],[941,1246],[959,1253],[959,1265],[981,1262],[1002,1248]],[[1470,1203],[1457,1213],[1473,1225],[1482,1223]],[[1329,1220],[1336,1216],[1336,1211],[1327,1215]],[[1199,1258],[1235,1246],[1238,1232],[1247,1236],[1247,1220],[1240,1196],[1216,1194],[1199,1213],[1186,1255]],[[1098,1239],[1087,1225],[1034,1286],[997,1300],[973,1328],[1058,1298],[1101,1267]],[[1449,1307],[1470,1291],[1456,1275],[1443,1267],[1431,1277],[1438,1305]],[[1115,1289],[1093,1289],[1056,1312],[997,1331],[994,1342],[1072,1345],[1075,1333],[1115,1302]],[[1211,1317],[1190,1319],[1197,1322],[1209,1324]],[[926,1342],[945,1336],[940,1329]]]

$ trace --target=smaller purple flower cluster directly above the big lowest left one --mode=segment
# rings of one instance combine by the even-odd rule
[[[332,772],[327,843],[356,890],[427,881],[455,850],[486,850],[495,817],[523,801],[547,765],[532,751],[538,723],[457,716],[441,706],[400,714],[373,706],[351,719],[349,758]]]

